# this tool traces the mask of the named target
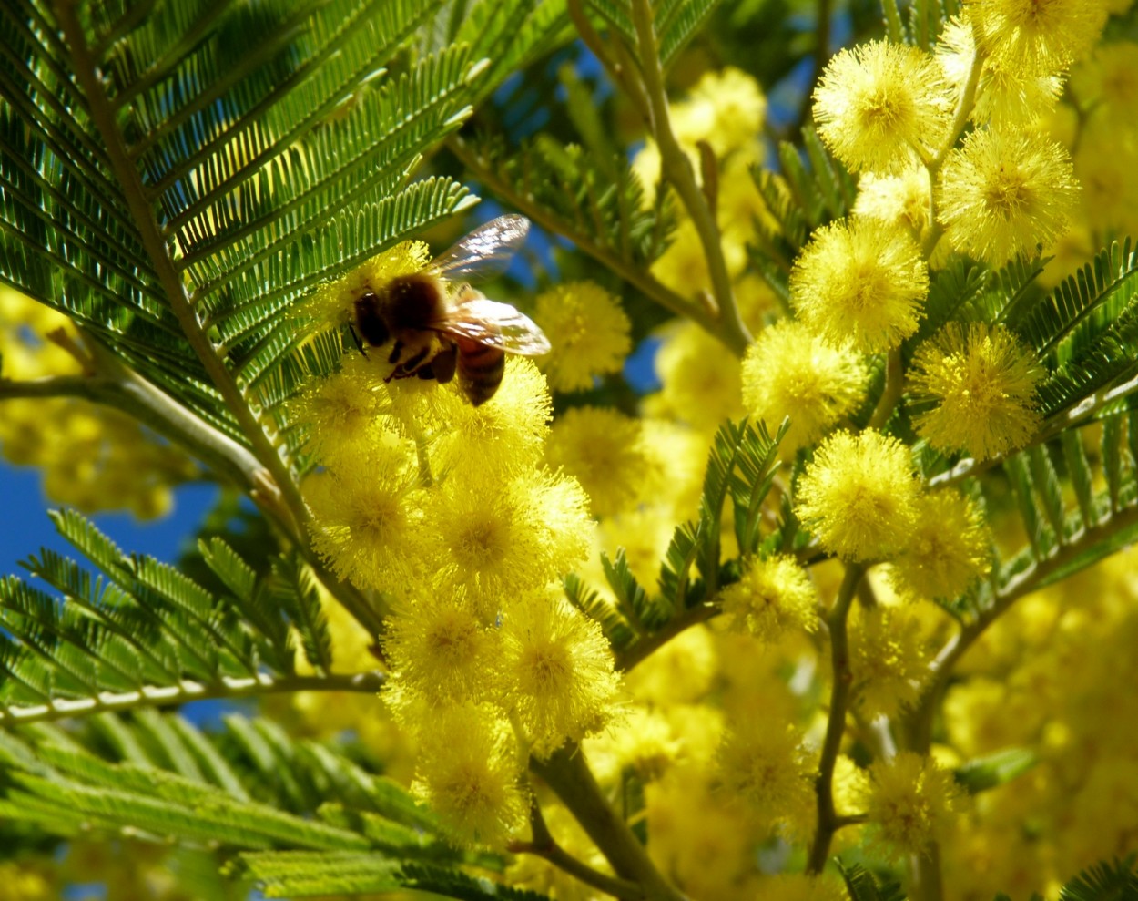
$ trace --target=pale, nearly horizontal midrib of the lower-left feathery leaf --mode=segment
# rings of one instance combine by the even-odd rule
[[[181,680],[170,686],[152,686],[137,691],[100,691],[94,697],[55,698],[43,704],[0,707],[0,726],[24,726],[51,722],[68,716],[94,713],[121,713],[141,707],[167,707],[191,701],[215,701],[255,695],[292,694],[296,691],[358,691],[373,695],[384,687],[386,677],[379,671],[351,675],[282,675],[259,673],[248,678],[222,677],[217,682]]]

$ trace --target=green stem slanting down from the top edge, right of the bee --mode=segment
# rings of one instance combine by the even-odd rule
[[[718,306],[718,319],[725,341],[732,347],[751,343],[751,334],[739,314],[735,293],[727,275],[719,226],[711,214],[708,198],[695,182],[695,171],[671,129],[668,96],[663,87],[660,54],[655,43],[655,24],[650,0],[632,0],[633,25],[636,28],[637,57],[644,79],[649,106],[649,129],[660,148],[660,163],[668,181],[675,187],[703,245],[711,290]]]

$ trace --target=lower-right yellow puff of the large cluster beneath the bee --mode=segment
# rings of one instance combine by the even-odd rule
[[[611,719],[620,682],[600,624],[563,597],[531,595],[509,606],[502,634],[508,704],[534,754],[549,756]]]

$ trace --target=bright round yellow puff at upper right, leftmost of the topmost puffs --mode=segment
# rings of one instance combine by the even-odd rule
[[[830,60],[814,92],[814,118],[849,169],[894,173],[947,140],[953,91],[931,55],[868,41]]]

